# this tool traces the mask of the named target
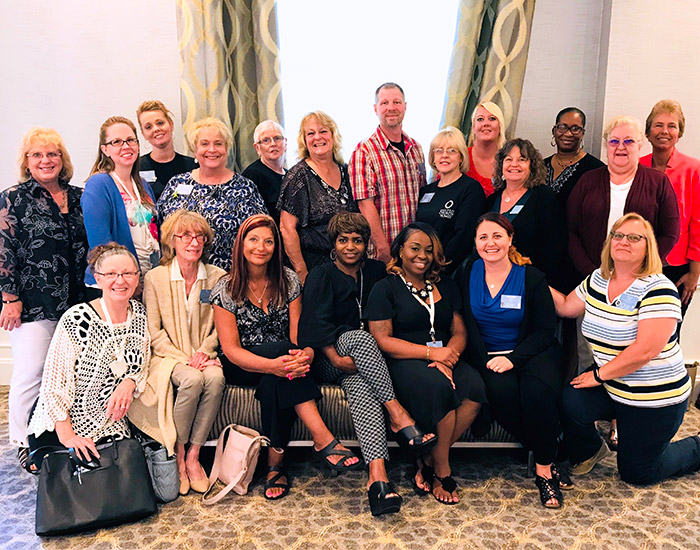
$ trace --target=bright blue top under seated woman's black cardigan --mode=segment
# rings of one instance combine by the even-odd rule
[[[486,351],[515,348],[523,321],[524,296],[525,266],[513,265],[503,286],[492,298],[486,285],[484,260],[474,262],[469,278],[469,300]]]

